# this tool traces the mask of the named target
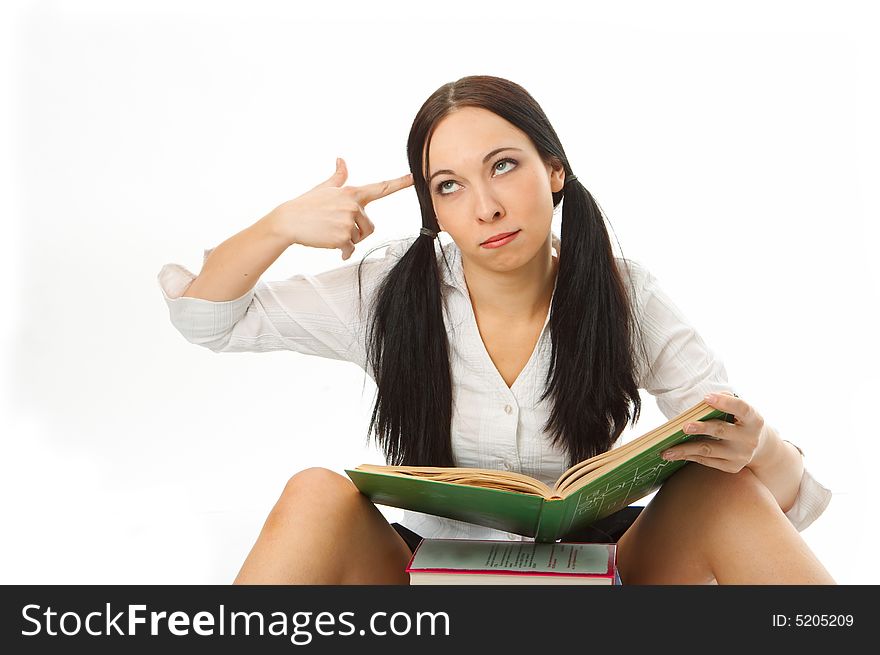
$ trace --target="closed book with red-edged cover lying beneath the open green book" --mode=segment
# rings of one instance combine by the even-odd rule
[[[620,584],[617,544],[422,539],[412,585]]]

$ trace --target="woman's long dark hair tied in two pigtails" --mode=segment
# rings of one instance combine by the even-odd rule
[[[528,135],[545,163],[561,165],[566,176],[572,173],[550,121],[524,88],[498,77],[463,77],[431,94],[410,129],[406,149],[422,226],[440,230],[422,155],[440,119],[461,107],[500,116]],[[427,161],[424,167],[428,170]],[[571,465],[611,448],[627,423],[638,420],[634,349],[641,339],[634,338],[633,296],[618,271],[601,210],[578,180],[553,193],[554,208],[563,194],[559,270],[548,323],[552,355],[541,400],[553,398],[543,429],[554,445],[564,445]],[[378,394],[368,442],[375,428],[389,464],[455,466],[449,344],[434,239],[415,239],[379,285],[372,310],[366,355]]]

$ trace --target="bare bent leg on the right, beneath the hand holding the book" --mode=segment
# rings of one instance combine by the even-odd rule
[[[624,584],[835,584],[749,469],[689,463],[618,542]]]

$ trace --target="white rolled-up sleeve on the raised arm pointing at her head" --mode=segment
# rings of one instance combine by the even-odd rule
[[[213,352],[291,350],[306,355],[353,361],[364,367],[366,316],[376,285],[399,256],[363,261],[363,304],[355,262],[315,275],[258,282],[239,298],[226,301],[183,294],[196,278],[179,264],[166,264],[158,275],[171,323],[190,343]],[[211,250],[204,252],[206,260]]]

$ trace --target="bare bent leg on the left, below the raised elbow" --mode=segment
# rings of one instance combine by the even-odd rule
[[[409,558],[351,480],[310,468],[288,481],[235,584],[409,584]]]

